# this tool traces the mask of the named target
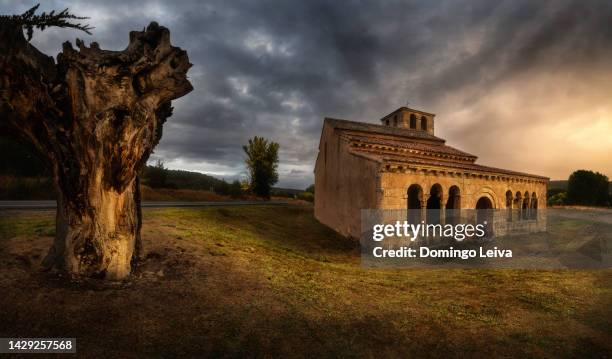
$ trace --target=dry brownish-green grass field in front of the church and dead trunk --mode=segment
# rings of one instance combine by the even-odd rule
[[[0,212],[0,337],[123,358],[612,352],[610,270],[363,269],[308,206],[145,210],[117,285],[39,272],[53,234],[53,212]]]

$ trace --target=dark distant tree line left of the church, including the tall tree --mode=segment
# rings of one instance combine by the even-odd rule
[[[254,137],[243,149],[250,174],[245,182],[228,182],[198,172],[171,170],[161,160],[145,166],[140,171],[140,180],[143,185],[154,189],[212,191],[234,198],[252,193],[264,198],[274,195],[314,201],[314,184],[303,191],[272,187],[278,181],[277,143]],[[31,145],[0,133],[0,153],[0,199],[55,198],[48,166]]]

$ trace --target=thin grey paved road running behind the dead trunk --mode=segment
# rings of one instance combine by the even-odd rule
[[[286,205],[288,202],[226,201],[226,202],[142,202],[146,208]],[[55,209],[55,201],[0,201],[0,209]]]

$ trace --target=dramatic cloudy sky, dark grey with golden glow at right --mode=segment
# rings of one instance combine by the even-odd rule
[[[0,13],[30,1],[0,0]],[[609,1],[44,1],[89,16],[92,36],[36,33],[120,50],[157,21],[194,64],[155,150],[170,168],[244,177],[241,145],[281,145],[278,186],[304,188],[323,118],[376,123],[409,101],[436,135],[486,165],[565,179],[612,177]]]

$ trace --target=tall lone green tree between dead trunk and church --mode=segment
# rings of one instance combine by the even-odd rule
[[[278,143],[255,136],[242,148],[247,154],[249,189],[257,196],[270,198],[270,189],[278,182]]]

